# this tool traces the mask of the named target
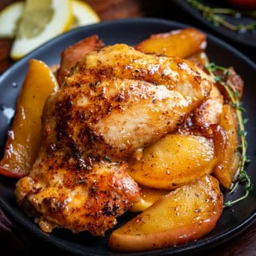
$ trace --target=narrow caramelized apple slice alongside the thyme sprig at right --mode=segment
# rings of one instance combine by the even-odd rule
[[[233,175],[239,165],[236,127],[234,110],[229,104],[225,104],[222,109],[220,127],[213,128],[213,140],[218,157],[218,163],[213,170],[213,175],[227,189],[231,187]]]

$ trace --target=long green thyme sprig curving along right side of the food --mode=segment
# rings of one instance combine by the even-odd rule
[[[240,153],[240,165],[237,170],[237,174],[234,175],[234,183],[233,189],[231,190],[231,193],[234,192],[237,185],[240,182],[243,182],[245,184],[244,189],[245,193],[240,198],[234,200],[234,201],[228,201],[225,203],[224,207],[231,207],[232,205],[236,204],[237,202],[242,201],[243,199],[246,199],[246,197],[249,195],[250,191],[252,190],[252,182],[249,177],[249,175],[246,173],[246,164],[249,163],[249,159],[246,156],[246,150],[247,150],[247,142],[246,142],[246,131],[245,131],[245,123],[248,121],[248,119],[243,119],[243,113],[245,112],[244,107],[242,106],[242,102],[239,100],[240,93],[237,91],[237,89],[234,87],[233,84],[229,81],[230,72],[228,69],[222,66],[217,66],[214,63],[209,63],[207,66],[205,66],[207,71],[210,73],[211,78],[213,78],[214,81],[219,83],[228,93],[228,97],[231,100],[231,104],[236,110],[237,113],[237,121],[238,121],[238,129],[237,134],[240,137],[240,145],[237,147],[237,151]],[[221,71],[223,72],[223,75],[217,75],[216,72]]]

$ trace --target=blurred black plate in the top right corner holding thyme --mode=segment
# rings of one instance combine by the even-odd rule
[[[225,1],[208,1],[204,0],[201,1],[202,4],[205,4],[209,7],[228,7],[231,9],[237,10],[234,6],[231,6],[230,4],[225,3]],[[256,30],[254,31],[246,31],[244,33],[231,31],[228,28],[225,28],[221,25],[216,26],[213,25],[212,22],[207,21],[207,19],[204,18],[202,15],[202,12],[197,10],[195,7],[193,7],[191,4],[187,3],[186,0],[176,0],[176,4],[178,4],[181,8],[186,10],[188,13],[190,13],[195,19],[198,19],[199,22],[202,22],[203,24],[207,25],[208,28],[212,29],[213,31],[216,31],[216,33],[219,33],[223,37],[228,38],[229,40],[234,40],[237,43],[241,43],[245,46],[253,46],[256,47]],[[235,18],[233,16],[223,16],[228,22],[231,22],[231,24],[239,25],[239,24],[250,24],[252,22],[255,22],[255,18],[249,17],[249,16],[241,16],[240,18]]]

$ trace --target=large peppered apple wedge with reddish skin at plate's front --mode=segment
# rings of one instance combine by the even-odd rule
[[[136,252],[188,243],[216,226],[222,213],[219,182],[205,175],[163,196],[110,235],[110,249]]]

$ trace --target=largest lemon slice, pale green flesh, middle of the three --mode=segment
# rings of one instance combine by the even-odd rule
[[[70,0],[25,1],[10,57],[17,60],[28,54],[51,38],[69,30],[72,21]]]

